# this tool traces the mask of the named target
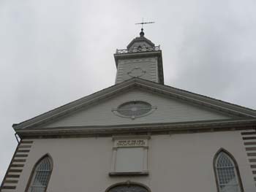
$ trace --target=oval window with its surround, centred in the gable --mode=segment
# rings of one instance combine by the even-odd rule
[[[119,105],[115,110],[112,110],[116,115],[122,118],[140,118],[153,112],[157,107],[152,107],[146,101],[128,101]]]

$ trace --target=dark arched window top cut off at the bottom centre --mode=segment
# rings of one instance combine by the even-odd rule
[[[111,185],[106,192],[151,192],[146,185],[127,181]]]

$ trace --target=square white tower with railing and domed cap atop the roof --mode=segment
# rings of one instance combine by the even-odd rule
[[[162,51],[160,46],[145,37],[143,28],[140,37],[132,39],[127,49],[116,50],[116,84],[132,77],[143,78],[164,84]]]

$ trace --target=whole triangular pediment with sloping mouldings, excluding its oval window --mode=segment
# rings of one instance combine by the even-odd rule
[[[128,101],[145,101],[156,109],[139,118],[124,118],[114,111]],[[110,88],[46,112],[23,123],[23,128],[131,126],[255,119],[255,110],[200,96],[159,83],[132,78]]]

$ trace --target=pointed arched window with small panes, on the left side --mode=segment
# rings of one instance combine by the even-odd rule
[[[34,166],[26,191],[45,192],[50,180],[52,169],[53,161],[49,155],[45,155],[40,158]]]

